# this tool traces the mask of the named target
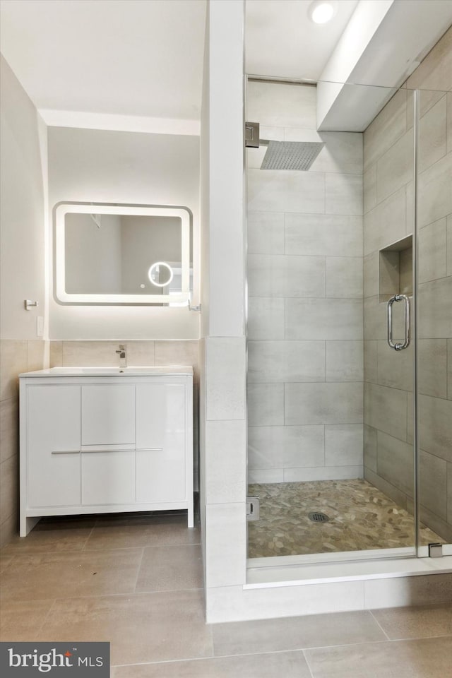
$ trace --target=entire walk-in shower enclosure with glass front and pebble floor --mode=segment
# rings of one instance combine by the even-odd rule
[[[252,565],[452,553],[452,95],[328,86],[246,84]]]

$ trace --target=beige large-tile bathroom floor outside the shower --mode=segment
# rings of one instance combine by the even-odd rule
[[[452,605],[206,625],[184,516],[50,520],[1,555],[1,640],[110,641],[112,678],[446,678]]]

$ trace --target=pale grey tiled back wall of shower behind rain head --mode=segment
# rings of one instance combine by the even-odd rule
[[[323,141],[308,172],[248,150],[250,482],[362,477],[362,134],[316,132],[316,88],[250,82],[275,141]]]

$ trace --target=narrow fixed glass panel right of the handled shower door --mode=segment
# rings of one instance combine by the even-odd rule
[[[420,521],[452,542],[452,94],[417,93],[417,440]],[[429,542],[419,533],[419,553]]]

